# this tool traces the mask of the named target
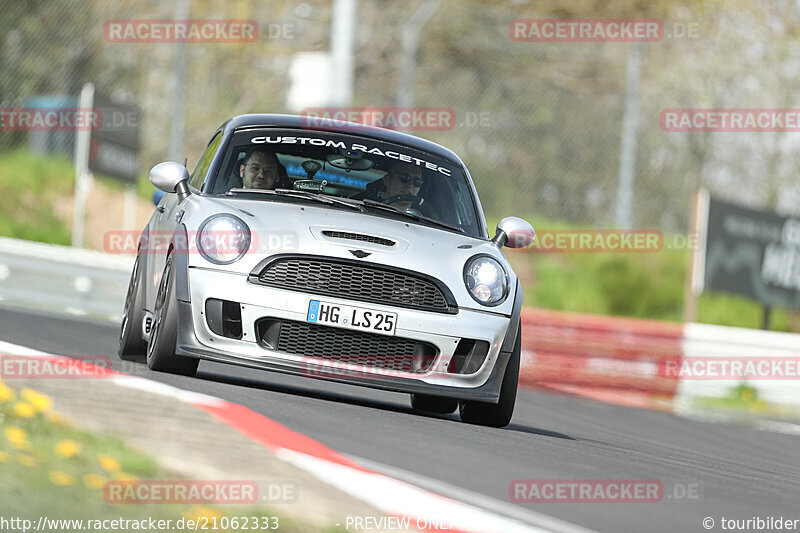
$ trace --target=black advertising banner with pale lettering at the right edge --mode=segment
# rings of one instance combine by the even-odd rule
[[[708,203],[705,290],[800,309],[800,218]]]

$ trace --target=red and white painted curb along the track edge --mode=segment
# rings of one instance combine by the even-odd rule
[[[52,358],[54,363],[69,359],[66,356],[40,352],[4,341],[0,341],[0,354],[46,357]],[[462,499],[473,500],[474,504],[443,496],[438,492],[367,468],[357,460],[345,457],[336,450],[242,405],[150,379],[99,369],[88,363],[86,365],[87,368],[91,368],[93,375],[97,375],[98,371],[108,373],[106,379],[120,387],[175,398],[206,411],[217,420],[261,444],[279,459],[372,505],[387,516],[403,520],[413,529],[449,533],[541,533],[543,531],[589,533],[591,531],[507,502],[495,501],[483,495],[435,482],[438,492],[457,494],[462,496]],[[391,471],[390,467],[376,466],[377,469]]]

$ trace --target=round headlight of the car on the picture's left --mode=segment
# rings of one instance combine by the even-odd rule
[[[250,228],[239,217],[214,215],[200,225],[197,249],[200,255],[217,265],[229,265],[242,258],[250,248]]]

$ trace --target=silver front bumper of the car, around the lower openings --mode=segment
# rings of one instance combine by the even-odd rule
[[[184,290],[178,291],[178,355],[396,392],[491,403],[499,399],[519,324],[519,286],[512,296],[516,301],[511,317],[471,309],[459,309],[458,314],[448,315],[367,304],[365,307],[397,313],[395,335],[433,344],[439,351],[437,359],[428,372],[421,374],[365,372],[364,367],[342,362],[337,362],[336,371],[331,372],[325,364],[316,367],[314,358],[265,349],[258,343],[255,327],[256,322],[265,317],[305,322],[309,301],[320,297],[253,284],[241,274],[203,268],[189,268],[183,272],[187,274],[179,280],[179,287],[182,285]],[[209,298],[240,303],[241,340],[211,331],[203,313]],[[362,305],[335,297],[322,299],[334,304]],[[446,361],[462,337],[488,342],[489,352],[483,365],[468,375],[440,370],[446,368]]]

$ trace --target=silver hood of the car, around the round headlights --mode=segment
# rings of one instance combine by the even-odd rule
[[[199,253],[190,254],[192,267],[249,274],[260,262],[280,254],[317,255],[390,265],[433,276],[444,282],[459,307],[511,314],[516,275],[491,241],[422,226],[413,220],[388,218],[348,208],[271,200],[190,197],[183,223],[190,236],[209,216],[230,213],[250,227],[252,244],[239,261],[215,265]],[[363,240],[368,238],[369,240]],[[368,254],[368,255],[366,255]],[[463,271],[473,256],[497,259],[508,272],[511,297],[496,307],[477,303],[467,292]]]

